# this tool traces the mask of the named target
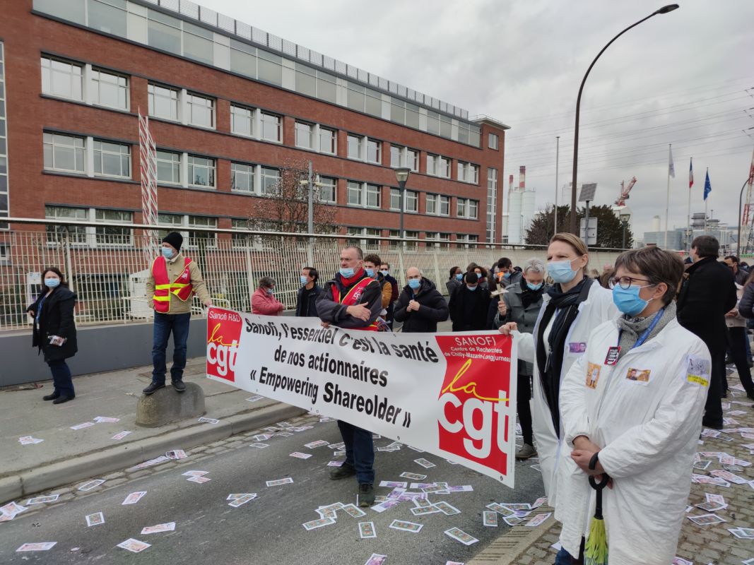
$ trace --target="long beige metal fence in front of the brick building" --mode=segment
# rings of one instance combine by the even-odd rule
[[[12,221],[11,221],[12,223]],[[82,324],[143,322],[152,318],[146,279],[151,255],[141,224],[46,221],[36,231],[0,231],[0,330],[28,329],[26,307],[40,290],[41,270],[59,267],[78,295],[76,321]],[[418,267],[446,294],[451,267],[465,269],[471,261],[489,267],[501,256],[523,264],[544,249],[489,246],[484,243],[433,243],[396,238],[273,234],[259,231],[192,228],[183,232],[182,252],[196,261],[214,304],[250,311],[251,295],[262,276],[275,281],[275,295],[287,309],[296,307],[302,267],[316,267],[320,282],[339,269],[345,243],[362,246],[391,264],[399,284],[406,269]],[[501,249],[502,248],[502,249]],[[152,248],[153,249],[153,248]],[[592,252],[599,270],[617,251]],[[204,309],[195,298],[196,316]]]

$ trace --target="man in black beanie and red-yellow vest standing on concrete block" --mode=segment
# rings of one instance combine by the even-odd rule
[[[142,392],[152,394],[165,386],[165,350],[173,334],[173,366],[170,380],[177,392],[185,390],[183,369],[186,366],[186,340],[189,338],[189,321],[194,293],[205,306],[212,306],[210,293],[201,278],[197,264],[181,253],[183,237],[171,231],[162,238],[162,254],[152,261],[146,292],[149,307],[155,310],[154,337],[152,339],[152,383]]]

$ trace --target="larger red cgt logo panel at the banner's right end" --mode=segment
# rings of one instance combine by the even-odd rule
[[[440,449],[507,475],[510,362],[478,357],[494,349],[510,359],[510,338],[437,336],[437,341],[447,365],[439,397]]]

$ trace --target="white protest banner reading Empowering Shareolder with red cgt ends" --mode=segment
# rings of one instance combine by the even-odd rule
[[[208,378],[345,420],[510,488],[516,362],[513,339],[498,332],[355,331],[218,307],[207,315]]]

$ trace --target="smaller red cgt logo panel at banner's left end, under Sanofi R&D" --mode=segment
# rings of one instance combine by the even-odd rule
[[[207,314],[207,374],[235,382],[235,362],[243,321],[230,310],[211,307]]]

